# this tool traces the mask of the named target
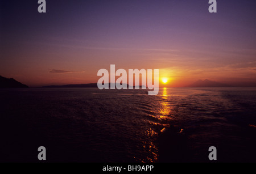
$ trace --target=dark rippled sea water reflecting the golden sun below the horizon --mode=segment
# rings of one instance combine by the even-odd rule
[[[256,88],[0,90],[0,162],[256,162]]]

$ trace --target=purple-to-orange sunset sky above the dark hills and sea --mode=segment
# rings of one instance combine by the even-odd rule
[[[198,79],[256,84],[256,1],[1,1],[0,75],[30,87],[96,83],[97,71],[159,69],[168,87]],[[161,82],[160,82],[161,83]]]

